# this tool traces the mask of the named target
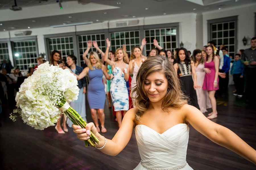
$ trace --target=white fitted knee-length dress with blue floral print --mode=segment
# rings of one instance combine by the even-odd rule
[[[127,64],[126,67],[128,67]],[[127,71],[127,68],[125,68],[125,71]],[[116,67],[116,63],[115,68],[113,69],[113,76],[113,80],[110,84],[110,94],[115,111],[128,111],[128,89],[124,79],[124,73],[119,67]]]

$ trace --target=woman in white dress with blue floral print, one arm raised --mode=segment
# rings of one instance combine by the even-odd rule
[[[115,61],[108,59],[108,51],[110,48],[110,41],[106,39],[107,48],[105,53],[105,61],[112,66],[112,72],[114,78],[110,85],[110,93],[112,102],[116,111],[116,119],[118,127],[120,128],[122,122],[122,114],[129,110],[129,96],[126,86],[126,81],[129,79],[129,65],[125,63],[126,56],[125,51],[122,48],[117,48],[115,51]]]

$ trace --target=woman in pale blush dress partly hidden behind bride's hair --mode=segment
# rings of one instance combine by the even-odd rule
[[[130,74],[133,74],[133,78],[131,80],[131,90],[132,90],[136,86],[136,76],[139,71],[139,68],[141,67],[141,64],[145,61],[145,59],[141,58],[141,48],[137,46],[133,47],[133,49],[131,50],[131,56],[132,58],[135,58],[129,62]],[[132,98],[136,97],[136,94],[134,95],[135,96],[132,96]]]

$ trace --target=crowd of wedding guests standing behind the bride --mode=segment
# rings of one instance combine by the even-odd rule
[[[61,68],[68,68],[71,73],[77,76],[79,97],[70,105],[77,110],[82,118],[86,120],[85,95],[90,107],[92,119],[98,132],[107,131],[104,121],[104,105],[107,94],[108,107],[112,108],[113,115],[118,126],[121,126],[123,115],[133,107],[131,90],[136,86],[136,75],[141,64],[148,56],[166,56],[173,64],[177,76],[181,82],[181,89],[189,99],[189,104],[200,109],[201,112],[211,112],[209,119],[217,117],[216,96],[225,97],[228,95],[229,79],[234,80],[234,96],[243,97],[245,103],[255,103],[253,97],[256,91],[256,37],[251,39],[251,48],[239,50],[235,56],[228,55],[228,48],[225,45],[216,47],[214,41],[208,42],[203,49],[196,49],[191,53],[185,48],[165,50],[154,39],[154,46],[147,56],[142,54],[146,45],[143,39],[141,46],[135,46],[129,55],[126,46],[110,51],[110,41],[106,39],[107,48],[103,52],[96,41],[88,41],[87,49],[83,54],[84,67],[77,65],[77,58],[69,55],[61,57],[61,53],[54,50],[51,53],[50,64],[59,65]],[[97,51],[90,51],[94,46]],[[99,57],[101,55],[101,58]],[[38,58],[38,65],[46,62]],[[28,69],[27,76],[31,76],[38,67]],[[5,99],[14,100],[15,90],[18,91],[20,71],[13,69],[10,64],[3,61],[1,64],[1,101]],[[24,80],[24,79],[23,79]],[[23,82],[23,81],[22,81]],[[88,83],[87,83],[88,82]],[[106,86],[106,87],[105,87]],[[105,90],[106,88],[106,90]],[[216,93],[216,94],[215,94]],[[113,105],[111,104],[113,103]],[[208,110],[207,110],[208,109]],[[55,129],[58,133],[68,131],[72,122],[62,117],[57,122]],[[61,122],[63,122],[61,127]],[[62,129],[63,128],[63,129]]]

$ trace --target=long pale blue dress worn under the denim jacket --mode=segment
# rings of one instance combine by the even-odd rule
[[[76,69],[71,69],[73,71],[73,73],[76,74]],[[83,88],[79,89],[79,94],[78,94],[78,98],[75,101],[72,101],[69,103],[69,105],[71,107],[73,107],[73,109],[75,109],[75,111],[77,111],[79,113],[79,115],[85,120],[85,122],[87,122],[86,120],[86,112],[85,112],[85,94],[83,94]],[[67,118],[67,125],[69,126],[69,128],[71,128],[71,126],[73,125],[73,123],[71,122],[71,120],[69,118]]]

